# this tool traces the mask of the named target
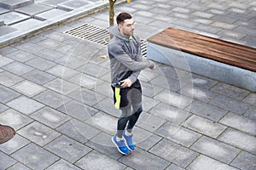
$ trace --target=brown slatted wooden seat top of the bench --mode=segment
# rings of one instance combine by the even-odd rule
[[[148,38],[148,42],[256,71],[256,49],[234,42],[226,42],[174,28],[161,31]]]

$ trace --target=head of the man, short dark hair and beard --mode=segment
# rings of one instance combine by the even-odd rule
[[[119,27],[119,31],[122,35],[132,36],[134,31],[134,20],[132,19],[131,14],[120,13],[116,17],[116,22]]]

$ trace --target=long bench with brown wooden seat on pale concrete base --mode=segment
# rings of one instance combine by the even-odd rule
[[[170,61],[166,64],[174,63],[173,66],[177,66],[175,50],[183,53],[191,72],[228,82],[241,88],[256,90],[256,48],[171,27],[148,38],[149,59],[165,63],[164,57]],[[161,54],[164,56],[157,59]],[[212,73],[213,76],[211,76]],[[240,77],[244,82],[238,82]],[[250,84],[247,85],[247,83]]]

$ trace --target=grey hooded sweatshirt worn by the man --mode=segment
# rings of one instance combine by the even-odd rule
[[[109,32],[114,36],[108,45],[112,83],[118,83],[126,78],[134,83],[140,71],[154,68],[154,62],[143,59],[139,37],[123,36],[117,26],[109,28]],[[120,88],[118,84],[114,84],[113,87]]]

